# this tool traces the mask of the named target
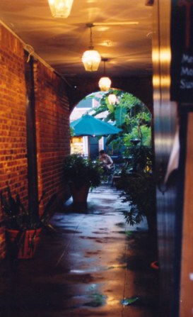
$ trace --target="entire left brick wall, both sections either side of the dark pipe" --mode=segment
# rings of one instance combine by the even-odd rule
[[[10,184],[28,205],[28,162],[23,44],[0,26],[0,190]],[[65,83],[39,61],[35,62],[35,109],[39,196],[46,204],[52,194],[64,199],[64,155],[69,154],[69,106]],[[2,213],[0,208],[0,223]],[[2,223],[1,223],[2,224]],[[4,227],[0,226],[0,258],[5,255]]]

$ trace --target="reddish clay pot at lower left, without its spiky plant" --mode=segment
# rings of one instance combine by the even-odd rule
[[[35,230],[6,230],[11,253],[18,259],[32,259],[40,240],[42,228]]]

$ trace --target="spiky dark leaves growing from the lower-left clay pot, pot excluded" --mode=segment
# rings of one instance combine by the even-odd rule
[[[42,194],[38,204],[40,204],[42,201],[43,196],[44,194]],[[4,223],[6,228],[14,230],[27,230],[49,226],[48,221],[52,216],[51,207],[56,198],[57,195],[54,194],[51,199],[49,199],[42,216],[37,218],[36,216],[30,215],[30,213],[28,213],[28,210],[26,210],[23,206],[18,194],[16,194],[16,198],[13,197],[7,182],[6,189],[1,191],[1,207],[4,211]]]

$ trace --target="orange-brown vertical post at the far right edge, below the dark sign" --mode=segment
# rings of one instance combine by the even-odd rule
[[[182,228],[180,317],[193,316],[193,113],[188,114]]]

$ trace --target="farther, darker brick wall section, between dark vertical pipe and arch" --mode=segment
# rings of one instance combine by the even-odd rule
[[[70,152],[69,104],[66,87],[56,74],[37,62],[35,65],[38,191],[47,200],[57,193],[65,196],[62,162]]]

